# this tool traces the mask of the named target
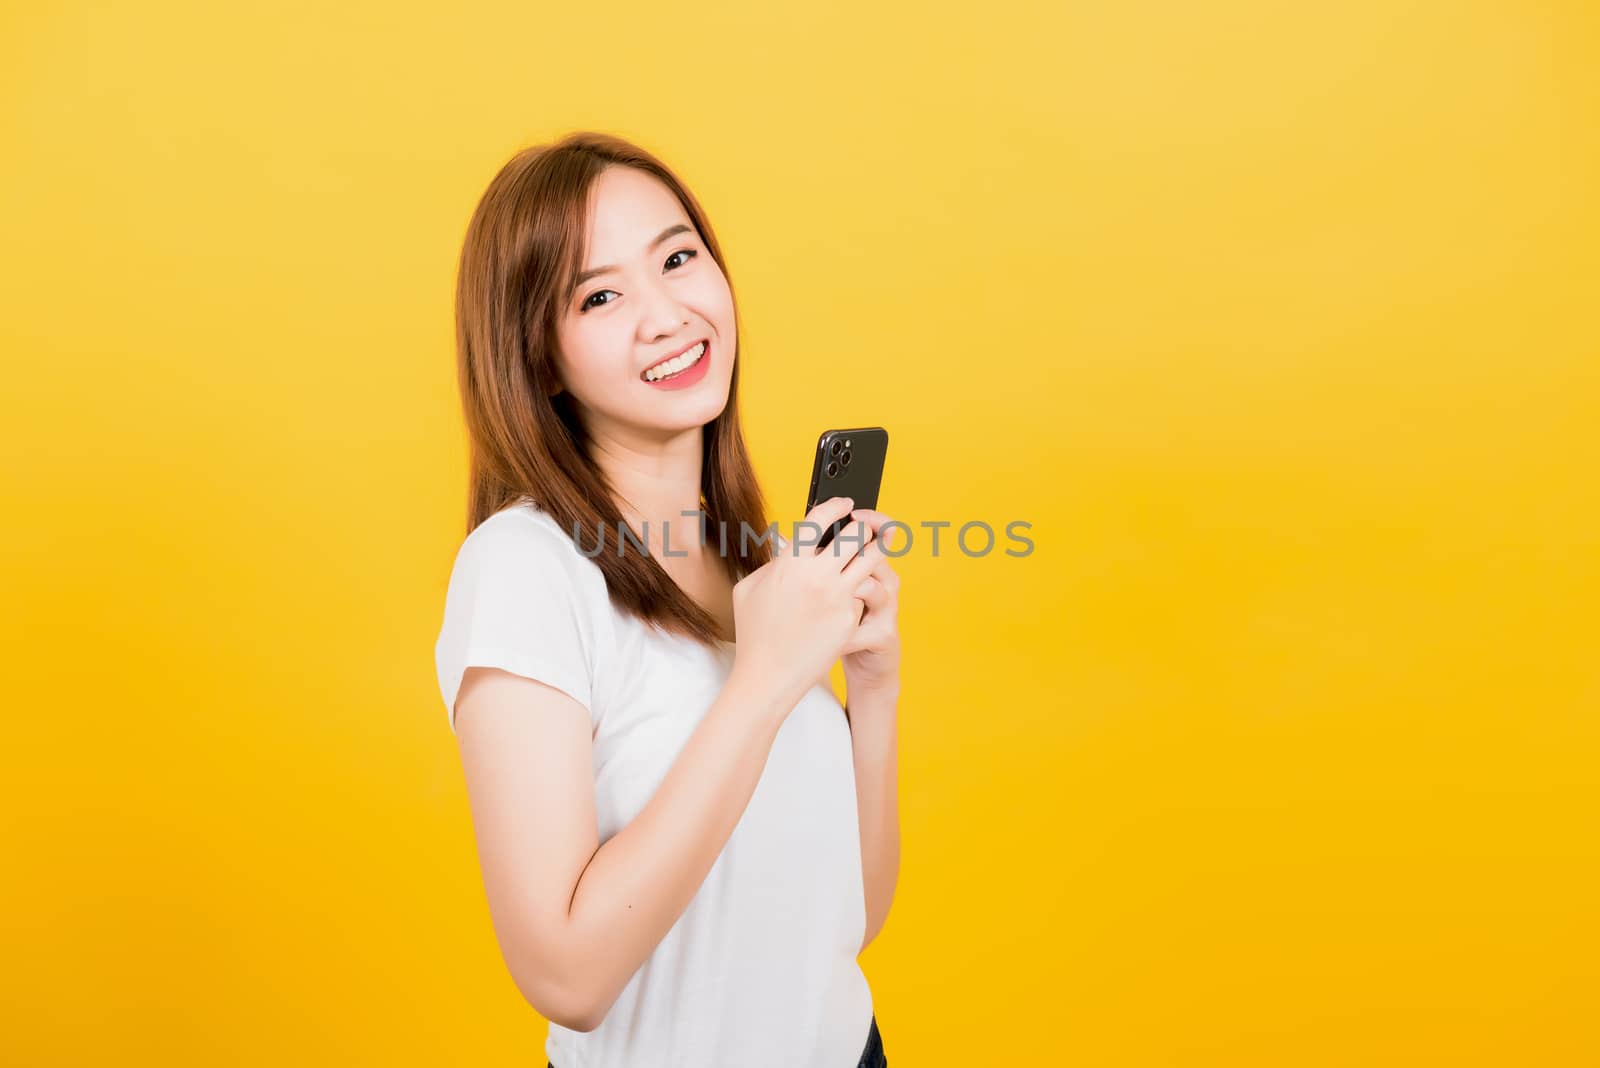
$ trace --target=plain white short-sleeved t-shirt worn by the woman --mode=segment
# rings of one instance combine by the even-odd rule
[[[594,531],[581,534],[594,545]],[[616,552],[616,544],[608,547]],[[598,564],[526,497],[456,553],[435,644],[454,732],[469,665],[536,678],[594,724],[600,843],[645,807],[733,668],[616,609]],[[549,1025],[555,1068],[854,1068],[872,1022],[850,724],[819,681],[784,721],[733,836],[594,1031]]]

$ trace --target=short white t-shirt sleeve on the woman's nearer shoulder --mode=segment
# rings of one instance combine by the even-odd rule
[[[445,592],[434,646],[438,692],[451,734],[456,694],[469,667],[538,679],[590,710],[595,671],[594,592],[581,556],[558,529],[520,510],[498,512],[461,548]]]

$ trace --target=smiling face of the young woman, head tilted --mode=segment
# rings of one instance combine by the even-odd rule
[[[715,419],[738,355],[733,293],[672,190],[630,166],[606,168],[581,272],[600,273],[581,273],[566,294],[555,365],[592,428],[661,436]],[[658,366],[698,352],[678,374]]]

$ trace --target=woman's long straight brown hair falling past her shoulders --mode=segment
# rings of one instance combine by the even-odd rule
[[[616,165],[661,179],[728,277],[706,213],[650,152],[594,131],[517,152],[472,213],[456,278],[456,373],[470,457],[467,532],[528,497],[568,537],[579,534],[582,553],[605,574],[613,604],[709,644],[722,636],[715,617],[654,556],[618,537],[627,524],[613,488],[589,459],[589,438],[573,398],[566,390],[552,397],[558,384],[557,317],[563,294],[582,270],[589,193],[600,173]],[[726,531],[722,560],[734,582],[771,560],[770,542],[757,537],[768,529],[766,507],[739,430],[744,347],[736,353],[728,404],[702,428],[701,456],[707,547],[722,540],[714,531]],[[746,528],[750,537],[744,537]]]

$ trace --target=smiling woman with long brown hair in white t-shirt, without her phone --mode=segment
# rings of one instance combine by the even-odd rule
[[[496,174],[456,315],[470,502],[435,662],[550,1065],[886,1065],[856,962],[899,865],[886,516],[832,499],[806,520],[856,521],[827,548],[773,536],[723,256],[626,141]]]

